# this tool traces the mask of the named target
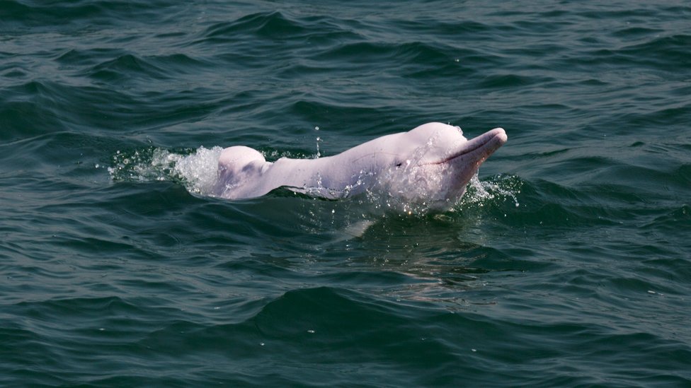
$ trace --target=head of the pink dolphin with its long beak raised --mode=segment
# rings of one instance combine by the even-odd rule
[[[379,184],[387,187],[390,196],[409,203],[451,206],[464,194],[481,163],[506,140],[501,128],[468,140],[459,127],[423,124],[382,143]]]

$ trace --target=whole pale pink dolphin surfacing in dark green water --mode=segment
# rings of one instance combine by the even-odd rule
[[[326,199],[379,192],[409,203],[448,207],[506,139],[501,128],[468,140],[459,127],[431,122],[316,159],[271,163],[253,148],[232,146],[219,156],[214,195],[247,199],[285,187]]]

